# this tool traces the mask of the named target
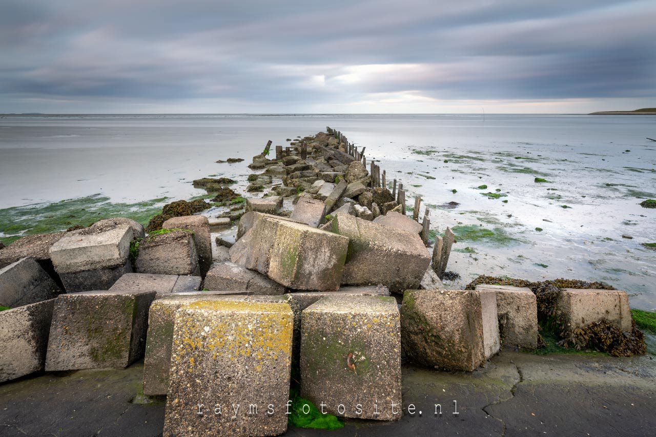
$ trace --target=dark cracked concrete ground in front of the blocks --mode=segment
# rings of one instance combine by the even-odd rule
[[[125,370],[41,373],[0,385],[0,435],[159,436],[164,404],[161,399],[138,403],[142,371],[138,363]],[[415,415],[407,413],[409,404]],[[434,415],[434,404],[441,404],[441,416]],[[656,430],[655,407],[651,355],[536,356],[503,350],[473,373],[404,366],[401,421],[351,419],[340,430],[290,428],[285,435],[642,436]]]

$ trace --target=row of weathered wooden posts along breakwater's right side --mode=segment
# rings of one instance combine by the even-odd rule
[[[351,144],[348,142],[348,138],[344,136],[340,131],[337,131],[335,129],[332,129],[329,126],[326,126],[326,132],[329,135],[335,135],[335,138],[341,143],[343,142],[346,145],[346,152],[354,157],[356,160],[361,161],[362,164],[367,167],[367,158],[364,155],[365,152],[365,147],[362,148],[358,152],[358,146],[355,146],[354,144]],[[380,162],[380,161],[378,161]],[[387,180],[386,180],[386,173],[383,170],[382,173],[380,171],[380,166],[376,163],[374,159],[371,160],[371,163],[369,164],[369,175],[371,176],[371,188],[387,188]],[[396,178],[392,181],[392,197],[396,199],[396,201],[401,205],[401,213],[403,215],[407,215],[405,211],[405,190],[403,190],[403,184],[401,182],[398,182],[398,190],[397,190],[397,181]],[[419,222],[419,211],[421,208],[421,197],[417,196],[415,197],[415,207],[413,209],[413,220],[416,222]],[[430,230],[430,208],[426,207],[424,209],[424,217],[422,218],[421,224],[422,224],[422,231],[421,231],[421,239],[424,241],[424,243],[428,244],[430,235],[428,231]]]

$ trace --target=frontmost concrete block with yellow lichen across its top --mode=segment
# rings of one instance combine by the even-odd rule
[[[180,308],[164,435],[285,432],[292,326],[292,312],[283,303],[200,301]],[[217,404],[221,415],[215,414]],[[241,406],[236,413],[233,404]]]

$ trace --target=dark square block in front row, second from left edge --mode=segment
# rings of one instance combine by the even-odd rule
[[[52,311],[47,371],[127,367],[146,346],[154,291],[60,295]]]

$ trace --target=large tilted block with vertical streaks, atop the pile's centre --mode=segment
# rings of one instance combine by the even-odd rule
[[[348,238],[287,220],[262,217],[230,249],[232,262],[285,287],[337,290]]]

